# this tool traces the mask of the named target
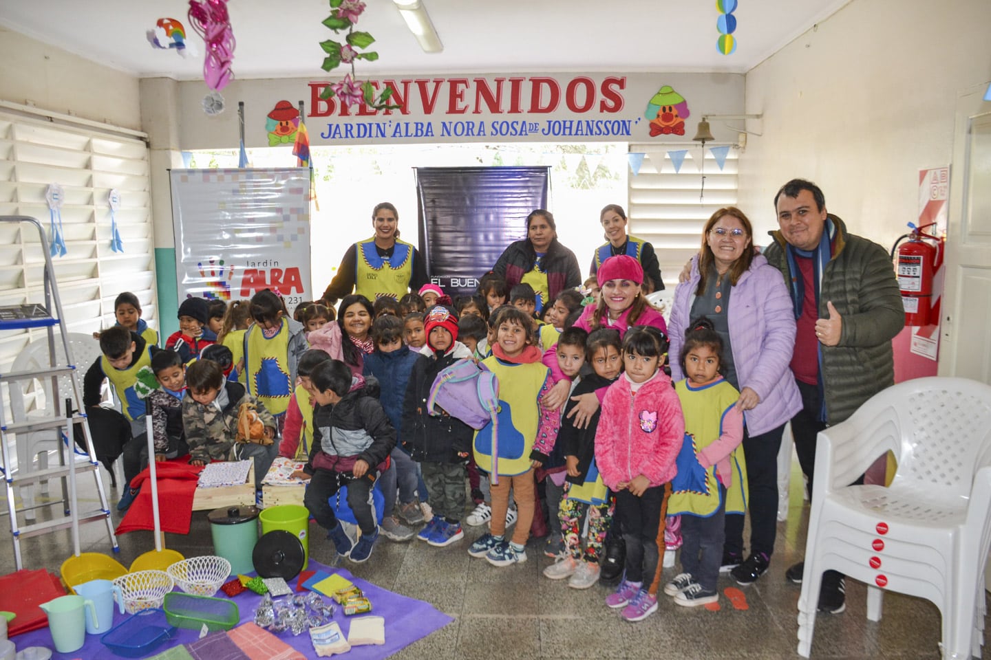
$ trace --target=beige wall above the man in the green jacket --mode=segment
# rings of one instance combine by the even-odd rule
[[[950,162],[957,92],[991,80],[988,0],[853,0],[746,76],[740,205],[758,236],[788,179],[819,183],[853,231],[890,245],[918,217],[918,170]],[[991,110],[991,103],[988,103]]]

